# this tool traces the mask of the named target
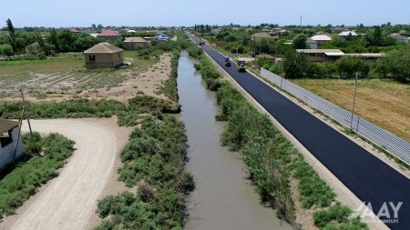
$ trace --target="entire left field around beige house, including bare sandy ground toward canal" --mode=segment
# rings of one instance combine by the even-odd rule
[[[124,53],[124,62],[130,65],[119,69],[88,70],[79,53],[0,63],[0,100],[19,100],[20,88],[31,101],[85,97],[126,102],[137,94],[159,95],[159,87],[170,73],[170,55],[143,58],[134,53]]]

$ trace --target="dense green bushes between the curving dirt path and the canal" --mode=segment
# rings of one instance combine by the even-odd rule
[[[184,172],[184,125],[172,115],[147,115],[121,152],[119,180],[137,193],[109,195],[98,202],[104,221],[96,229],[181,229],[185,198],[195,187]]]

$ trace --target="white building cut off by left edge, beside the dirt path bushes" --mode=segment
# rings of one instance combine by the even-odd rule
[[[18,127],[18,122],[0,118],[0,170],[24,154],[23,142],[18,138]]]

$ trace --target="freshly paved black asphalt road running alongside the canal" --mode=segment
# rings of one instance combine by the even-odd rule
[[[190,36],[198,43],[197,38]],[[231,67],[225,66],[223,55],[209,45],[200,46],[354,195],[365,204],[370,202],[376,215],[384,202],[403,202],[398,223],[386,225],[391,229],[410,229],[409,179],[258,78],[247,72],[239,73],[233,63]],[[393,218],[393,209],[387,206]]]

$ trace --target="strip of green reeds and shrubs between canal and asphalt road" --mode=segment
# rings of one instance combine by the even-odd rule
[[[207,64],[210,60],[203,55],[202,62]],[[214,65],[208,66],[218,73]],[[216,80],[220,80],[218,78]],[[261,115],[226,81],[214,90],[220,105],[216,118],[227,122],[221,144],[241,153],[262,201],[276,207],[278,215],[295,227],[299,226],[297,204],[301,204],[303,209],[313,210],[314,225],[321,229],[367,229],[360,219],[348,218],[352,210],[337,203],[329,185],[272,125],[267,115]],[[297,183],[298,201],[293,200],[292,181]]]

